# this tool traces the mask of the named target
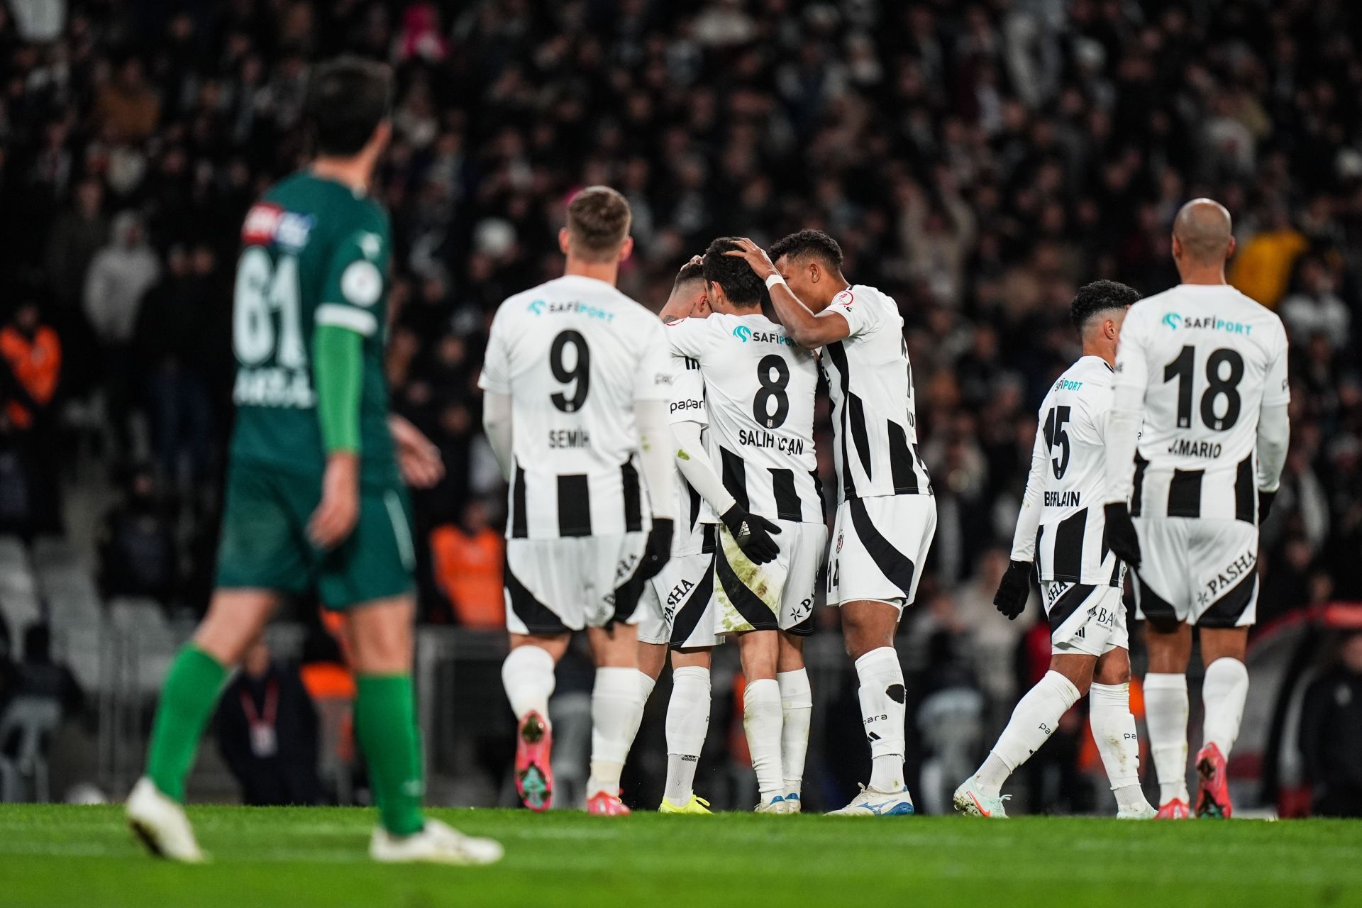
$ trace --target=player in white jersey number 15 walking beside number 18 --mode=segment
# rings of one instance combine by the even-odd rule
[[[1096,280],[1069,304],[1083,357],[1065,370],[1041,404],[1012,564],[993,604],[1013,619],[1039,574],[1050,619],[1050,670],[1012,711],[1012,720],[978,772],[955,791],[955,809],[975,817],[1007,815],[1000,792],[1060,717],[1088,696],[1092,738],[1115,792],[1117,815],[1148,820],[1154,807],[1140,791],[1140,741],[1130,715],[1130,645],[1121,592],[1125,569],[1107,549],[1106,423],[1121,321],[1140,294]]]

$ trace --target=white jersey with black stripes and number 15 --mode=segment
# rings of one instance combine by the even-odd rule
[[[1031,561],[1034,553],[1042,583],[1121,585],[1121,562],[1107,549],[1102,512],[1113,378],[1106,359],[1083,357],[1041,404],[1012,558]]]

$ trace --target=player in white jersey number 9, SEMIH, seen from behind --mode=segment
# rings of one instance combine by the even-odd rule
[[[628,813],[620,772],[643,717],[629,621],[671,549],[666,338],[614,287],[633,248],[629,221],[614,189],[573,196],[558,233],[564,276],[501,304],[478,381],[488,441],[511,485],[501,679],[518,721],[516,787],[533,810],[553,796],[553,667],[571,632],[586,628],[597,662],[587,810]]]

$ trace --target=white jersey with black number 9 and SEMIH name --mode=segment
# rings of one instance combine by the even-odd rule
[[[478,387],[511,396],[507,536],[647,530],[636,400],[671,400],[662,323],[612,285],[565,275],[497,309]]]

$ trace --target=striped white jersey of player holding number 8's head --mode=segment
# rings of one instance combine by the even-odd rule
[[[898,304],[874,287],[854,285],[829,305],[851,334],[823,348],[832,398],[838,501],[932,494],[918,457],[913,366]]]

